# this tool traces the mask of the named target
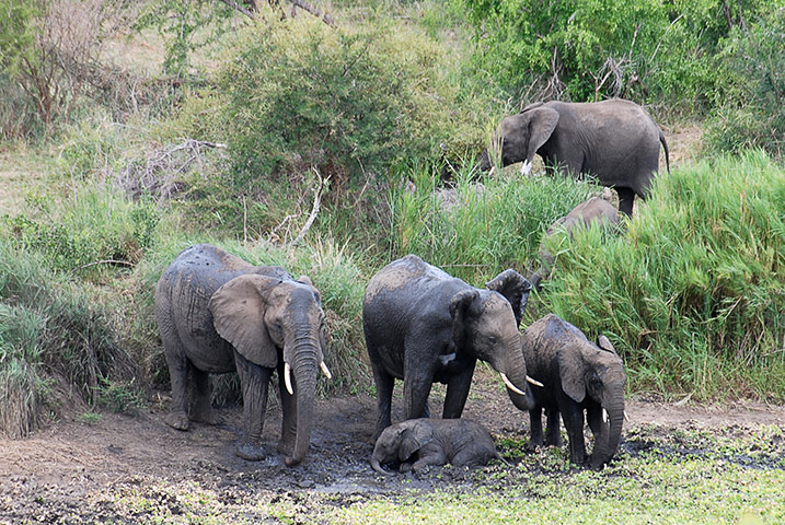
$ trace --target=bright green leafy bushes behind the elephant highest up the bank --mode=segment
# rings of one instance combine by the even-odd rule
[[[544,96],[624,96],[690,110],[714,103],[721,39],[775,3],[453,1],[477,27],[476,60],[510,91],[540,79]]]

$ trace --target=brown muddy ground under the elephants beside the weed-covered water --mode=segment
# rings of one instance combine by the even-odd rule
[[[396,388],[400,396],[400,389]],[[431,395],[438,413],[443,390]],[[280,523],[259,501],[287,500],[300,516],[320,505],[350,505],[372,498],[394,498],[404,490],[436,488],[473,490],[483,485],[483,470],[437,469],[428,474],[381,476],[368,465],[374,400],[360,394],[319,401],[320,415],[305,463],[282,465],[275,453],[280,424],[272,402],[265,442],[273,451],[261,463],[233,454],[241,431],[241,409],[220,409],[223,424],[196,425],[178,432],[163,423],[169,399],[161,394],[138,413],[68,417],[25,440],[0,440],[0,523],[148,523],[154,516],[175,518],[184,512],[181,493],[206,491],[234,520]],[[648,433],[705,428],[716,432],[752,432],[760,425],[785,428],[785,407],[738,402],[700,407],[628,400],[622,453],[646,448]],[[506,397],[500,381],[486,371],[475,377],[464,417],[482,421],[500,440],[524,442],[528,417]],[[642,434],[642,429],[645,431]],[[678,453],[678,451],[674,451]],[[527,454],[527,453],[521,453]],[[509,457],[509,455],[508,455]],[[765,460],[765,458],[763,459]],[[515,457],[487,469],[516,470]],[[780,467],[777,467],[780,468]],[[510,478],[515,482],[515,478]],[[140,501],[145,503],[141,504]]]

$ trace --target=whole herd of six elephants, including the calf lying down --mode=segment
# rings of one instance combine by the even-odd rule
[[[566,173],[592,173],[617,189],[621,211],[627,214],[634,195],[648,191],[660,143],[667,159],[659,128],[626,101],[534,104],[504,119],[496,136],[504,165],[524,161],[526,167],[538,153],[546,165]],[[489,166],[492,155],[493,148],[481,159],[482,167]],[[591,222],[613,225],[619,218],[611,205],[596,199],[554,228],[569,232]],[[531,276],[535,285],[553,265],[542,250],[541,259],[543,266]],[[599,468],[611,460],[624,418],[622,360],[604,336],[592,342],[552,314],[520,331],[531,290],[532,283],[512,269],[480,289],[415,255],[390,262],[370,279],[362,329],[377,390],[374,470],[417,471],[496,457],[487,430],[460,419],[477,360],[499,373],[512,404],[529,412],[532,446],[561,445],[563,420],[573,463]],[[244,419],[236,454],[262,459],[268,384],[277,371],[282,409],[278,452],[288,466],[303,460],[316,378],[320,372],[331,377],[325,315],[308,277],[253,266],[216,246],[192,246],[161,276],[155,316],[172,384],[166,424],[185,431],[192,421],[216,423],[208,376],[236,371]],[[393,424],[395,380],[403,381],[403,421]],[[447,385],[441,419],[430,418],[428,407],[437,382]],[[594,438],[589,455],[587,422]]]

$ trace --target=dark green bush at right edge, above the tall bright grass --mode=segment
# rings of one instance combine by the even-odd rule
[[[709,152],[731,153],[759,147],[785,158],[785,8],[738,28],[720,60],[732,75],[726,96],[708,120]]]

